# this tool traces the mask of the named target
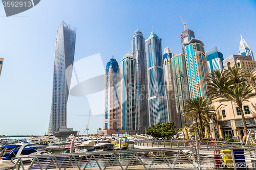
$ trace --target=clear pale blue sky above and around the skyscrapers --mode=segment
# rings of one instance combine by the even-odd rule
[[[48,129],[57,28],[61,21],[77,27],[75,61],[100,53],[104,65],[112,55],[120,62],[131,53],[137,29],[145,39],[154,32],[162,46],[181,52],[183,23],[224,58],[238,54],[240,34],[256,55],[256,2],[246,1],[71,1],[42,0],[34,8],[5,17],[0,5],[0,134],[39,134]],[[163,50],[163,49],[162,49]],[[97,68],[95,68],[97,69]],[[103,97],[103,96],[102,96]],[[69,96],[68,127],[84,131],[86,97]],[[89,133],[102,128],[103,116],[90,118]]]

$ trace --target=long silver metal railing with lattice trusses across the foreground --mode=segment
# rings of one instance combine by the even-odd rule
[[[14,169],[216,169],[256,168],[256,147],[204,147],[50,154],[13,158]]]

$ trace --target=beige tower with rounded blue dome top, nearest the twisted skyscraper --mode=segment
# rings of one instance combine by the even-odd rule
[[[120,69],[116,59],[106,64],[104,80],[103,129],[120,129]]]

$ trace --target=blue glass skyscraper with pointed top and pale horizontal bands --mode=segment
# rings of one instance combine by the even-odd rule
[[[150,37],[146,40],[150,125],[168,122],[161,41],[162,39],[154,32],[151,32]]]

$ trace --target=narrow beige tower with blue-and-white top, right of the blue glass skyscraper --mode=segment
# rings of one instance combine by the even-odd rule
[[[175,104],[175,92],[174,92],[174,82],[173,82],[173,70],[172,64],[170,63],[170,59],[172,58],[172,52],[170,48],[164,48],[163,54],[163,69],[164,69],[164,79],[165,79],[165,87],[166,87],[166,95],[167,95],[167,106],[168,106],[168,114],[169,121],[175,122],[175,126],[177,127],[177,114],[176,114],[176,104]]]

